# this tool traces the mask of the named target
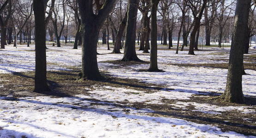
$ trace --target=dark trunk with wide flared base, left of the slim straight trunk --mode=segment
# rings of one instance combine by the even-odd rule
[[[124,57],[121,61],[140,61],[135,51],[138,0],[129,0]]]

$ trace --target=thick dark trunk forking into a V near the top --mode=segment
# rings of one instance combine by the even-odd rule
[[[93,0],[78,0],[83,32],[82,46],[82,79],[100,80],[101,76],[97,63],[97,42],[100,28],[112,10],[115,0],[107,0],[95,15]]]

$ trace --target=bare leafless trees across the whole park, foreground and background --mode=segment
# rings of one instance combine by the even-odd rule
[[[77,49],[79,42],[82,45],[82,79],[101,80],[103,78],[97,64],[97,43],[100,32],[103,35],[103,43],[106,41],[105,36],[110,34],[109,26],[111,26],[114,38],[113,53],[120,53],[125,35],[124,57],[121,61],[141,61],[137,57],[135,50],[136,40],[140,40],[140,50],[143,50],[143,52],[149,52],[150,45],[150,67],[148,71],[161,71],[157,66],[157,34],[159,28],[157,21],[161,22],[164,45],[167,45],[168,36],[169,48],[172,46],[170,42],[172,41],[173,30],[179,24],[176,53],[179,50],[179,39],[182,33],[184,40],[182,50],[187,45],[187,39],[190,34],[188,54],[195,55],[194,49],[197,49],[200,26],[205,26],[206,45],[210,45],[209,40],[214,23],[219,23],[220,35],[223,33],[225,24],[232,12],[232,5],[235,4],[234,1],[227,1],[33,0],[33,3],[31,3],[30,0],[23,0],[22,3],[19,3],[18,0],[5,0],[0,8],[0,14],[4,15],[4,17],[0,17],[1,48],[4,48],[4,43],[6,42],[7,23],[11,22],[11,28],[14,28],[15,31],[15,26],[18,26],[18,31],[15,32],[15,35],[21,34],[23,31],[26,32],[25,34],[29,38],[31,30],[33,30],[31,24],[34,22],[36,42],[35,92],[49,91],[46,78],[45,42],[46,30],[48,29],[49,34],[50,32],[53,34],[50,29],[51,25],[54,29],[57,46],[60,47],[60,36],[65,32],[65,24],[67,24],[66,28],[69,28],[69,23],[75,23],[76,36],[73,48]],[[20,11],[14,10],[17,5],[20,7]],[[34,19],[31,16],[32,9],[34,11]],[[138,17],[138,11],[141,12],[142,17]],[[181,11],[181,13],[178,11]],[[250,23],[248,22],[249,20],[254,20],[254,8],[251,8],[250,0],[237,0],[235,11],[227,85],[226,91],[221,98],[230,102],[242,103],[244,102],[242,93],[243,54],[248,49],[247,44],[249,45],[250,35],[254,32],[254,29],[252,29],[254,25],[251,25],[252,28],[250,28]],[[21,16],[18,16],[18,14],[22,15],[23,21],[18,22],[21,20]],[[159,19],[159,17],[161,18]],[[202,18],[204,19],[203,21]],[[141,20],[140,24],[138,20]],[[50,22],[52,23],[51,25],[49,25]],[[116,27],[115,23],[119,23],[118,27]],[[64,33],[65,38],[67,38],[68,33],[68,31]],[[150,44],[149,38],[151,40]],[[15,41],[17,40],[15,39]]]

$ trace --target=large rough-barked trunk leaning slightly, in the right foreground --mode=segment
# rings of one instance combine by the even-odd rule
[[[226,90],[220,96],[232,103],[244,103],[242,68],[244,59],[244,34],[248,33],[250,0],[237,0],[232,44],[229,56]]]

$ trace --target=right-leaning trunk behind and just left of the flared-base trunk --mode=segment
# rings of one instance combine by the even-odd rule
[[[122,22],[119,24],[118,31],[115,38],[115,45],[112,53],[120,54],[120,48],[122,47],[122,36],[124,34],[125,26],[127,22],[127,11],[125,12],[125,17],[122,19]]]

